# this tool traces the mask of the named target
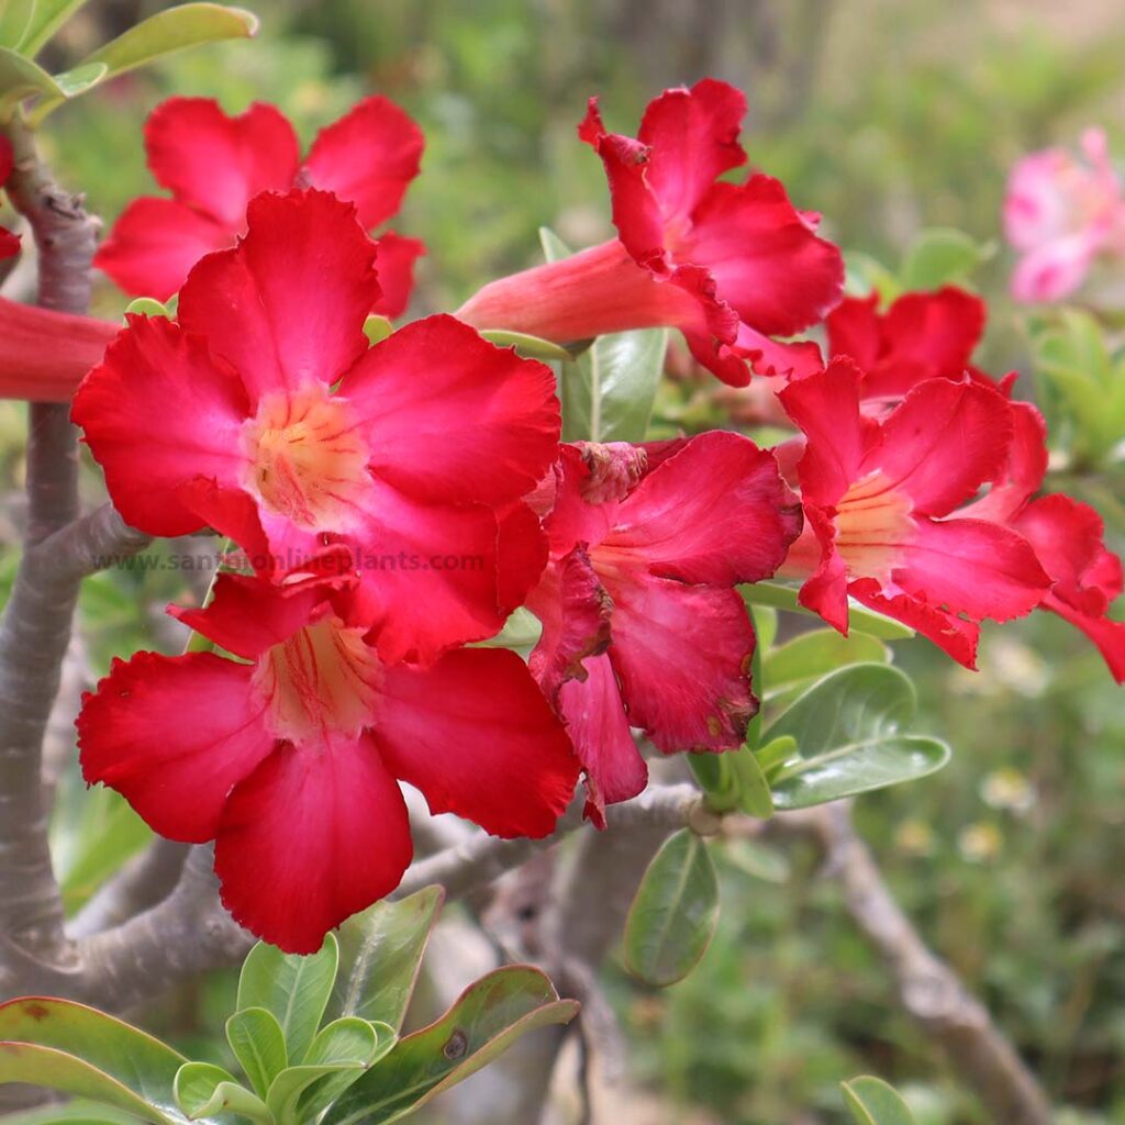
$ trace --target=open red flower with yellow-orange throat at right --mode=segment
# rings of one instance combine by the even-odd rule
[[[1001,475],[1010,405],[981,384],[929,379],[876,422],[861,414],[863,379],[837,359],[781,394],[807,438],[808,531],[785,572],[811,572],[801,603],[842,632],[850,594],[973,667],[979,622],[1028,613],[1050,587],[1022,536],[957,511]]]

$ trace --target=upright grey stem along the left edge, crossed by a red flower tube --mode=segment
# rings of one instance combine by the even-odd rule
[[[15,168],[6,190],[39,251],[38,304],[84,313],[97,220],[62,191],[39,161],[30,133],[9,126]],[[32,403],[27,439],[27,530],[0,623],[0,933],[65,958],[62,897],[51,868],[42,789],[43,736],[70,642],[78,578],[53,582],[35,544],[78,513],[78,443],[69,408]]]

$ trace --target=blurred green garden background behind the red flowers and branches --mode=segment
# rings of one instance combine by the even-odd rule
[[[160,7],[94,0],[60,62]],[[256,10],[258,42],[179,56],[61,110],[48,152],[108,223],[153,190],[140,126],[168,94],[209,94],[231,110],[273,101],[307,140],[357,97],[386,93],[428,138],[394,224],[430,248],[418,314],[538,261],[542,224],[577,245],[608,236],[601,166],[574,130],[592,93],[611,126],[632,132],[666,86],[736,82],[750,102],[752,163],[822,212],[845,249],[890,263],[922,226],[998,238],[1007,169],[1029,148],[1100,123],[1125,153],[1125,9],[1106,0],[263,0]],[[975,279],[992,302],[982,366],[998,374],[1028,367],[1005,296],[1010,266],[999,249]],[[108,286],[97,300],[104,315],[124,307]],[[693,426],[726,424],[713,389],[692,392]],[[1034,394],[1028,380],[1022,393]],[[22,423],[15,408],[0,423],[15,480]],[[1056,486],[1120,519],[1119,471]],[[1118,548],[1123,530],[1112,528]],[[180,593],[173,577],[89,584],[99,669],[115,651],[161,644],[154,614]],[[927,939],[1073,1107],[1066,1119],[1125,1122],[1123,696],[1054,620],[987,630],[975,675],[925,642],[898,649],[955,758],[935,778],[860,801],[860,827]],[[127,819],[73,784],[66,792],[63,848]],[[144,835],[114,831],[128,847]],[[98,878],[71,872],[74,900]],[[904,1088],[919,1125],[986,1120],[898,1012],[811,856],[727,863],[720,936],[684,984],[655,993],[613,969],[608,979],[641,1078],[673,1107],[652,1120],[838,1122],[836,1083],[865,1071]],[[168,1018],[183,1032],[201,1017],[188,998]]]

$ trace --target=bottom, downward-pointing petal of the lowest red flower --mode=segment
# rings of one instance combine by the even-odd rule
[[[374,739],[281,744],[227,802],[215,843],[223,904],[286,953],[389,894],[411,862],[406,802]]]

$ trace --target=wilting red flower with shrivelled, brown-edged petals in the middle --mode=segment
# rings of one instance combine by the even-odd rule
[[[773,458],[738,434],[651,456],[562,448],[550,562],[528,600],[543,623],[531,670],[566,719],[596,822],[645,788],[630,726],[666,754],[741,744],[754,630],[731,587],[773,574],[800,526]]]

